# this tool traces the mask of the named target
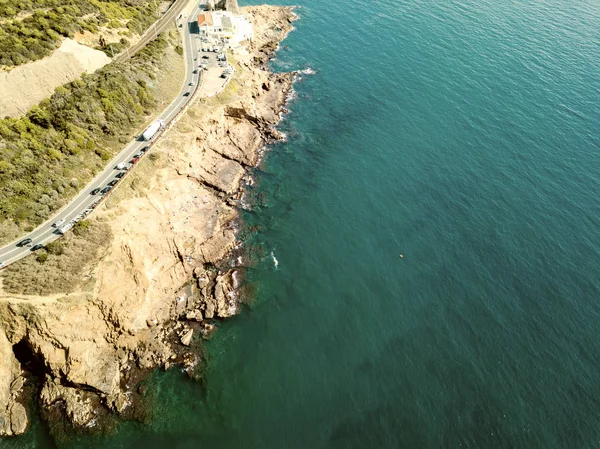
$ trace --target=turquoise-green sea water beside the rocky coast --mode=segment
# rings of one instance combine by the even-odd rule
[[[316,73],[245,214],[256,302],[71,446],[598,447],[598,3],[288,4],[274,68]]]

